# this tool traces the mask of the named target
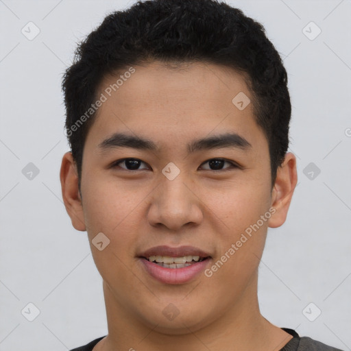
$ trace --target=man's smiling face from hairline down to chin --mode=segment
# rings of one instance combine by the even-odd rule
[[[68,211],[122,314],[197,330],[256,301],[267,227],[284,221],[290,199],[279,172],[271,188],[242,75],[204,63],[134,69],[110,96],[123,72],[99,87],[107,99],[84,145],[82,202]]]

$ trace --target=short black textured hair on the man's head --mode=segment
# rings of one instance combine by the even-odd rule
[[[256,123],[269,145],[273,185],[289,147],[287,71],[263,25],[216,0],[138,1],[127,10],[108,14],[79,43],[62,80],[66,134],[79,180],[99,84],[109,73],[150,60],[207,62],[243,73],[254,97]],[[84,114],[89,118],[82,123]]]

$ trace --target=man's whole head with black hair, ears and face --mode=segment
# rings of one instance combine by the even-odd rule
[[[287,73],[262,25],[212,0],[138,2],[80,43],[62,86],[64,203],[121,308],[181,332],[253,299],[267,228],[296,184]],[[207,274],[151,278],[141,260],[156,245],[197,247]],[[162,315],[170,303],[182,323]]]

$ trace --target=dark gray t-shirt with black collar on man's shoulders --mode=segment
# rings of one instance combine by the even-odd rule
[[[280,351],[343,351],[339,348],[332,348],[327,346],[324,343],[315,341],[309,337],[300,337],[297,332],[293,329],[282,328],[290,335],[293,336],[293,339],[287,343]],[[74,348],[71,351],[93,351],[94,346],[104,337],[99,337],[90,343],[87,343],[85,346],[80,346],[80,348]]]

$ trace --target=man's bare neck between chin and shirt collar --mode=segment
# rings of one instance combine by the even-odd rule
[[[270,324],[258,307],[257,275],[241,298],[217,319],[201,327],[183,323],[182,330],[172,334],[160,332],[159,324],[147,325],[141,315],[125,308],[104,282],[108,320],[108,336],[99,341],[94,351],[278,351],[292,338],[284,330]],[[175,334],[176,333],[176,334]]]

